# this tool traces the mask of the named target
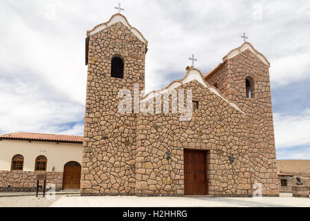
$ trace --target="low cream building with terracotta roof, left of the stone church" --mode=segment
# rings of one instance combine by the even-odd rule
[[[0,192],[34,191],[37,174],[59,189],[79,189],[83,136],[42,133],[0,135]],[[41,184],[40,184],[41,185]]]

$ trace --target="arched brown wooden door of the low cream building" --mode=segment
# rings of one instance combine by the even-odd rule
[[[81,165],[70,161],[63,167],[63,189],[79,189],[81,182]]]

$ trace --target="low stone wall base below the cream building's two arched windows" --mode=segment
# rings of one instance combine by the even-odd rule
[[[0,192],[34,192],[37,189],[38,174],[46,174],[46,185],[55,184],[56,191],[63,186],[62,172],[0,171]],[[39,182],[43,191],[43,181]]]

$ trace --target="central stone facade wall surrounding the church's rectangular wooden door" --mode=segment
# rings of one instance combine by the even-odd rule
[[[192,89],[198,101],[192,120],[180,121],[171,106],[169,113],[138,115],[136,195],[184,195],[184,148],[208,151],[209,195],[251,195],[246,116],[196,80],[180,88]]]

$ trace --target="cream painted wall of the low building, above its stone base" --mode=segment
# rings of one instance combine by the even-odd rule
[[[14,155],[23,155],[23,171],[34,171],[37,156],[48,158],[46,171],[63,172],[63,166],[69,161],[82,164],[83,144],[37,142],[23,140],[0,140],[0,171],[10,171]]]

